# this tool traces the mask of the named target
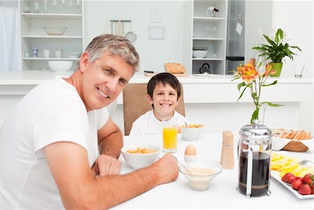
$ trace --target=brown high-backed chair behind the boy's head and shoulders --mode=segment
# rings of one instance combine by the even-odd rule
[[[185,116],[183,93],[181,85],[181,97],[174,110]],[[129,83],[124,88],[122,95],[124,100],[124,135],[128,136],[133,122],[153,107],[147,101],[147,83]]]

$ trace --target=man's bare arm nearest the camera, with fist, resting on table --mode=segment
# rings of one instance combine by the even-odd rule
[[[158,184],[174,181],[179,174],[171,154],[127,175],[95,177],[82,146],[61,141],[44,150],[66,209],[108,209]]]

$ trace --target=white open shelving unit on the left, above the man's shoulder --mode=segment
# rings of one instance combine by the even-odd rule
[[[72,70],[83,50],[82,0],[20,1],[22,70],[49,70],[48,60],[73,60]],[[66,27],[63,35],[48,35],[46,27]],[[38,49],[38,57],[33,56]],[[61,58],[55,51],[62,50]],[[50,51],[45,58],[44,50]],[[28,54],[28,55],[27,55]]]

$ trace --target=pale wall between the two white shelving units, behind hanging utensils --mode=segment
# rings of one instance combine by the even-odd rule
[[[151,23],[151,9],[160,9],[163,22]],[[163,72],[167,62],[183,63],[184,1],[86,1],[84,4],[84,43],[110,32],[110,19],[132,20],[137,35],[133,42],[140,54],[140,72]],[[190,15],[190,14],[188,14]],[[106,26],[107,24],[107,26]],[[149,40],[148,26],[165,26],[165,40]]]

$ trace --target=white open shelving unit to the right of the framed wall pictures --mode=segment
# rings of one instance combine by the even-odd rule
[[[214,16],[207,10],[210,7],[219,12]],[[192,47],[207,48],[207,58],[192,57],[192,74],[199,74],[204,63],[209,64],[212,74],[225,74],[227,0],[194,0],[192,28]]]

